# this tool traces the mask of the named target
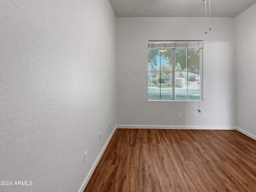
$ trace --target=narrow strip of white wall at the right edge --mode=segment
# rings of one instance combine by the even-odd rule
[[[237,127],[256,139],[256,4],[235,18]]]

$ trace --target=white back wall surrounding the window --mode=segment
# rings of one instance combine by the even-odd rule
[[[236,125],[234,18],[212,18],[204,32],[204,18],[117,18],[118,125]],[[148,40],[204,40],[201,114],[198,102],[148,101]]]

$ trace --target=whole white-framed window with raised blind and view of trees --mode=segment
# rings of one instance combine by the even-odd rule
[[[202,100],[202,41],[148,41],[148,100]]]

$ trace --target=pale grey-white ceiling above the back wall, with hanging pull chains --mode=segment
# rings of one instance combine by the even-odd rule
[[[203,0],[109,0],[116,17],[203,17]],[[207,13],[209,14],[209,0]],[[236,17],[256,0],[210,0],[212,17]]]

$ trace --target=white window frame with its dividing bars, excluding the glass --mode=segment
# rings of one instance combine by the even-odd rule
[[[148,50],[149,49],[172,49],[172,99],[149,99],[148,101],[202,101],[203,100],[203,48],[204,48],[204,42],[202,40],[199,41],[148,41]],[[188,83],[187,83],[187,91],[186,91],[186,99],[175,99],[175,49],[176,48],[186,48],[188,52],[188,48],[200,48],[200,99],[188,99]],[[152,62],[151,62],[152,65]],[[188,60],[186,61],[186,65],[188,68]],[[149,66],[149,65],[148,65]],[[148,73],[153,72],[149,71]],[[159,71],[161,72],[161,71]],[[186,72],[187,75],[187,82],[188,82],[188,72],[190,71],[182,71]],[[195,72],[195,71],[191,71]],[[198,71],[197,71],[198,72]],[[148,96],[149,96],[149,87],[148,87]],[[160,90],[160,96],[161,96],[161,90]]]

